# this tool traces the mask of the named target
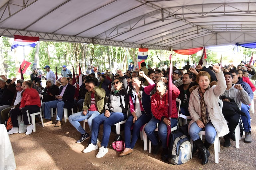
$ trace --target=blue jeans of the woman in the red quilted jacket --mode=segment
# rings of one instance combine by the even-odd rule
[[[147,137],[151,141],[152,145],[158,144],[158,139],[155,135],[155,129],[157,128],[157,123],[160,123],[158,126],[158,136],[159,139],[162,141],[163,148],[167,148],[167,125],[155,117],[153,117],[145,126],[145,133],[147,134]],[[178,123],[178,120],[175,118],[171,118],[171,128],[175,127]]]

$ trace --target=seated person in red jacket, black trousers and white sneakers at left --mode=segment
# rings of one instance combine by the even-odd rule
[[[33,125],[30,122],[29,114],[36,113],[40,111],[41,100],[37,90],[33,89],[33,84],[29,81],[24,81],[22,83],[22,88],[24,92],[22,94],[20,108],[14,108],[10,110],[11,120],[13,128],[8,132],[8,134],[19,133],[18,125],[18,115],[23,115],[24,124],[27,126],[26,135],[30,135],[33,130]],[[27,114],[27,110],[29,114]]]

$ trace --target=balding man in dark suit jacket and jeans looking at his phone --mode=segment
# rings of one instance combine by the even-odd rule
[[[63,117],[63,108],[70,109],[73,107],[75,87],[68,83],[66,77],[61,79],[61,83],[63,86],[60,88],[60,95],[56,95],[55,101],[45,104],[44,125],[52,124],[51,108],[57,108],[57,123],[54,127],[59,127]]]

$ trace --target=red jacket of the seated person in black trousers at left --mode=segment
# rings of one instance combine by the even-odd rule
[[[38,107],[41,107],[41,100],[40,100],[39,94],[37,90],[33,88],[31,89],[26,88],[21,98],[20,108],[23,108],[25,106],[32,106],[32,105],[37,105]]]

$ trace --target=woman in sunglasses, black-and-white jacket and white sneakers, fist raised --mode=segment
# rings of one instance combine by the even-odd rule
[[[103,124],[101,148],[99,149],[96,158],[101,158],[108,152],[107,145],[111,132],[111,126],[127,118],[130,89],[123,72],[118,70],[117,73],[121,77],[115,78],[112,83],[114,86],[114,91],[111,91],[108,97],[104,114],[100,114],[92,120],[91,144],[89,144],[89,146],[83,150],[84,153],[88,153],[92,150],[98,149],[97,138],[99,134],[99,127],[101,124]]]

